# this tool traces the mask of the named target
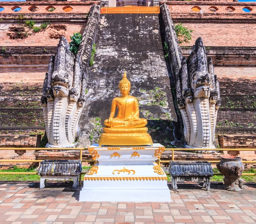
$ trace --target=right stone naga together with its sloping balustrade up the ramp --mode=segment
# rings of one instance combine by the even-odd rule
[[[207,59],[206,49],[200,37],[186,60],[186,57],[182,56],[169,7],[163,4],[160,9],[165,41],[169,46],[169,64],[176,89],[177,107],[184,125],[185,146],[215,148],[215,126],[221,100],[212,59]],[[213,151],[204,151],[207,152]]]

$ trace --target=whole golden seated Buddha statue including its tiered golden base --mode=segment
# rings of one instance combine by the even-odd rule
[[[147,120],[139,116],[139,104],[134,96],[129,95],[131,83],[126,78],[126,72],[119,82],[121,96],[115,97],[111,105],[111,113],[104,121],[106,128],[99,138],[101,145],[153,145],[151,136],[147,133]],[[118,108],[117,116],[114,117]]]

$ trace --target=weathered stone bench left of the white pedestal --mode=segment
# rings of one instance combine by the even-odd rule
[[[47,180],[69,179],[73,179],[73,188],[76,189],[81,171],[81,160],[44,160],[38,170],[40,189],[44,189]]]

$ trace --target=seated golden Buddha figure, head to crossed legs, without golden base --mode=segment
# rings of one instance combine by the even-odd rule
[[[130,96],[131,83],[126,78],[126,72],[119,82],[121,96],[115,97],[111,105],[109,119],[105,120],[104,125],[108,128],[141,128],[147,125],[147,120],[139,117],[139,105],[136,97]],[[117,116],[114,118],[116,107]]]

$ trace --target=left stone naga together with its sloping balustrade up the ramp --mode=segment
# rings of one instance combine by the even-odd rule
[[[50,57],[41,98],[49,142],[46,147],[75,147],[78,144],[79,117],[85,103],[87,71],[99,14],[99,6],[93,5],[76,56],[62,36],[57,53]]]

